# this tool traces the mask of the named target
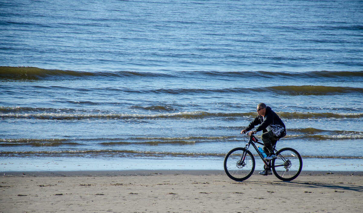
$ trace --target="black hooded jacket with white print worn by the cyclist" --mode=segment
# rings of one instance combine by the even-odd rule
[[[264,118],[265,117],[265,118]],[[257,127],[256,131],[259,132],[262,130],[262,132],[267,132],[266,128],[270,125],[281,125],[284,127],[286,132],[286,127],[284,122],[280,119],[280,117],[276,114],[276,112],[272,111],[271,107],[266,107],[266,114],[265,116],[258,115],[254,120],[248,125],[246,128],[246,131],[250,131],[254,128],[254,126],[260,124],[260,126]]]

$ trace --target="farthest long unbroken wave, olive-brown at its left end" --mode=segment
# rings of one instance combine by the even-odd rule
[[[168,71],[166,72],[138,72],[138,71],[72,71],[57,69],[42,69],[38,67],[0,66],[0,79],[70,79],[92,77],[163,77],[163,78],[324,78],[341,79],[363,77],[363,71],[307,71],[307,72],[276,72],[276,71]]]

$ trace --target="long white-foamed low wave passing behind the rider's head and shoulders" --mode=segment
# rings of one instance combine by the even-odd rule
[[[283,119],[327,119],[327,118],[362,118],[362,112],[356,113],[334,113],[334,112],[277,112],[280,118]],[[0,118],[32,118],[32,119],[54,119],[54,120],[69,120],[69,119],[155,119],[155,118],[208,118],[208,117],[254,117],[255,112],[242,113],[210,113],[205,111],[193,112],[174,112],[162,114],[64,114],[64,113],[4,113],[0,114]]]

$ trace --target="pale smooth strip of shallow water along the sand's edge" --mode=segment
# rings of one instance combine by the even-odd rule
[[[88,158],[88,157],[0,157],[0,174],[6,172],[61,172],[61,171],[138,171],[141,169],[151,171],[166,170],[215,170],[223,171],[223,158],[193,159],[177,157],[176,159],[127,159],[127,158]],[[256,161],[255,170],[262,171],[264,164]],[[362,172],[362,159],[322,159],[303,158],[303,171],[346,171]]]

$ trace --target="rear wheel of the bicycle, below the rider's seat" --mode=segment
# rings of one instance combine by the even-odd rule
[[[294,180],[302,169],[301,155],[293,148],[282,148],[276,153],[277,158],[272,160],[272,172],[283,181]]]

